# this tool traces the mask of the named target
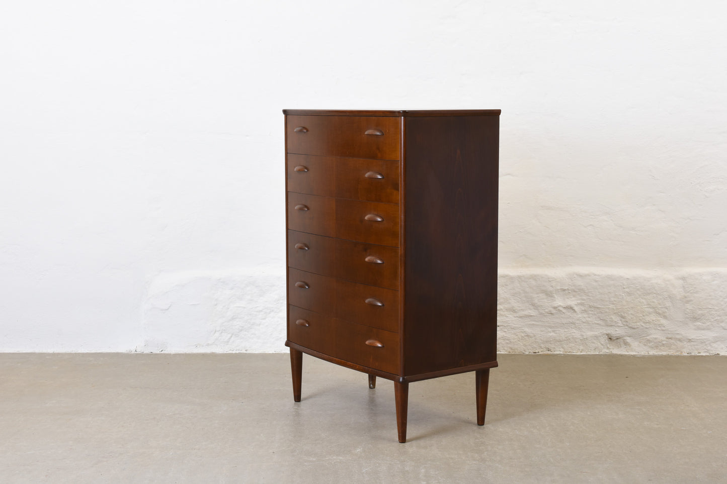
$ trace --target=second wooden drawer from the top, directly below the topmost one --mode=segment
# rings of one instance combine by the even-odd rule
[[[288,190],[297,193],[399,203],[399,162],[288,155]]]

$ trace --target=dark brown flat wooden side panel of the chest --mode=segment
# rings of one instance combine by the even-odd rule
[[[406,375],[497,360],[499,118],[406,118]]]

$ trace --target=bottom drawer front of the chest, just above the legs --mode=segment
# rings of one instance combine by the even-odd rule
[[[393,374],[399,372],[399,335],[390,331],[290,305],[288,339],[350,363]]]

